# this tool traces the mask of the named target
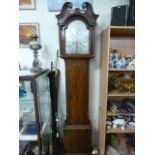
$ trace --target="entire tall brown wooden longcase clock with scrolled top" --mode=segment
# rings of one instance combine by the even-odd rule
[[[90,3],[82,10],[66,2],[57,15],[60,56],[65,60],[67,118],[64,125],[64,154],[91,153],[89,109],[89,60],[95,56],[95,27],[98,15]]]

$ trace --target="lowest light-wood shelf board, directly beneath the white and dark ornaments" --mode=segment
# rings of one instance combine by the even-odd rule
[[[122,130],[121,127],[110,128],[106,131],[106,133],[135,133],[135,129],[125,128]]]

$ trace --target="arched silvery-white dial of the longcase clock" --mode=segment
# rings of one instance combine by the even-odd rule
[[[72,21],[66,29],[65,51],[67,54],[89,53],[89,30],[81,20]]]

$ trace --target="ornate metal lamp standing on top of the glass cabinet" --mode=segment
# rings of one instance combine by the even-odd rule
[[[38,59],[38,50],[42,48],[40,42],[38,41],[39,36],[37,34],[33,34],[31,37],[31,41],[29,43],[30,49],[32,49],[34,52],[34,60],[33,60],[33,68],[31,69],[31,72],[40,72],[43,69],[41,68],[42,63]]]

